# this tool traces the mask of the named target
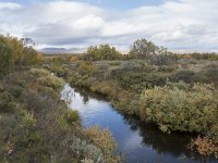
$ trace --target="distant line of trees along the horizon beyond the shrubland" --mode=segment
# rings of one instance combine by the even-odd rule
[[[178,60],[208,60],[208,61],[218,61],[218,54],[213,53],[175,53],[169,51],[165,47],[158,47],[153,41],[147,39],[137,39],[131,46],[131,49],[128,53],[121,53],[114,47],[110,45],[99,45],[90,46],[87,49],[87,52],[77,53],[77,54],[56,54],[47,55],[47,59],[53,61],[58,58],[59,62],[71,62],[77,60],[84,61],[123,61],[123,60],[147,60],[155,65],[169,65],[174,64]]]

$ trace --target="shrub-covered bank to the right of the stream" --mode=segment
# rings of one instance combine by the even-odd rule
[[[51,64],[49,68],[73,86],[107,96],[125,114],[156,123],[165,133],[199,133],[216,143],[217,83],[215,76],[207,76],[217,66],[201,61],[187,63],[185,67],[155,66],[144,60],[131,60],[77,61]],[[198,67],[197,72],[193,67]]]

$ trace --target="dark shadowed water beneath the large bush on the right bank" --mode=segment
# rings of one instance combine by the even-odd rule
[[[155,124],[148,124],[138,121],[136,117],[124,115],[124,121],[130,125],[131,130],[140,130],[138,134],[143,138],[143,143],[152,147],[159,154],[170,153],[175,158],[181,154],[193,156],[186,146],[191,135],[172,133],[161,133]]]

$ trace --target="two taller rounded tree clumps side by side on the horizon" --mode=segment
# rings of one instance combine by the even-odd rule
[[[82,54],[80,59],[85,61],[148,59],[156,64],[168,64],[173,60],[172,54],[166,48],[158,47],[152,41],[138,39],[132,45],[130,52],[126,54],[122,54],[109,45],[100,45],[90,46],[87,53]]]

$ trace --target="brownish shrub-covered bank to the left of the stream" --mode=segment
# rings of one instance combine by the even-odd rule
[[[41,68],[0,80],[2,162],[120,162],[110,131],[83,128],[78,112],[60,100],[63,86]]]

